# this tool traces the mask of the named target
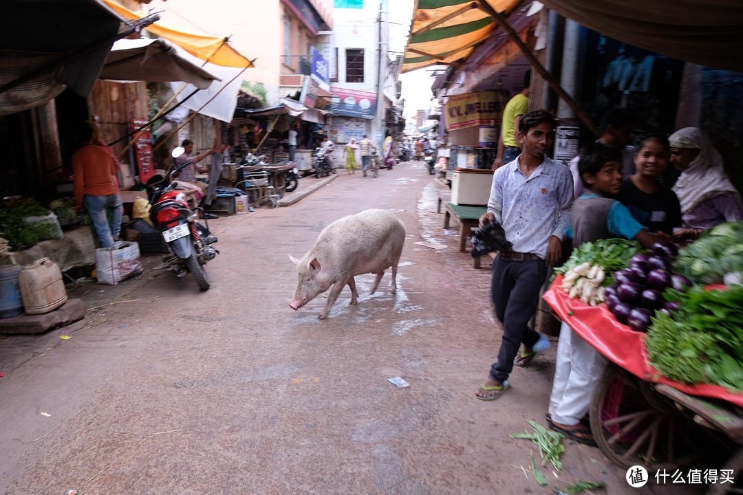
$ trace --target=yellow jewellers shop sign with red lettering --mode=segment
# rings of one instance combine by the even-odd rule
[[[447,117],[447,131],[455,131],[476,125],[500,124],[507,98],[496,91],[450,96],[444,112]]]

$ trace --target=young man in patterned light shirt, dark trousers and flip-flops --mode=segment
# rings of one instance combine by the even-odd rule
[[[544,110],[523,115],[518,134],[523,151],[493,174],[487,212],[480,218],[480,226],[500,223],[513,244],[512,251],[501,252],[493,261],[490,295],[503,338],[498,361],[475,393],[483,401],[498,399],[508,390],[514,364],[526,366],[534,353],[550,347],[544,335],[528,327],[528,321],[539,302],[547,267],[555,266],[562,256],[573,203],[570,169],[545,155],[556,123]],[[519,354],[522,343],[524,352]]]

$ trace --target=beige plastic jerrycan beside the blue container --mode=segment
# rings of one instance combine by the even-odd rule
[[[27,315],[48,313],[67,301],[62,270],[48,258],[24,265],[18,275],[18,285]]]

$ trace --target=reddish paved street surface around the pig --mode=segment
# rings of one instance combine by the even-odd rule
[[[69,289],[88,306],[84,321],[1,339],[0,492],[508,495],[591,479],[608,485],[596,493],[701,493],[635,490],[600,450],[571,443],[565,470],[542,468],[549,487],[537,485],[536,447],[509,434],[544,424],[554,348],[515,369],[501,399],[478,401],[501,335],[489,263],[473,269],[441,229],[439,184],[421,163],[339,174],[291,206],[211,221],[221,254],[207,292],[152,270],[159,259],[147,255],[138,278]],[[360,304],[348,306],[346,288],[326,321],[324,296],[290,309],[288,254],[369,208],[406,225],[398,294],[388,273],[369,295],[365,275]]]

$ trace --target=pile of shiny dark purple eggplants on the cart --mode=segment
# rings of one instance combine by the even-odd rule
[[[637,332],[646,332],[655,312],[672,312],[678,302],[666,301],[663,291],[667,288],[684,291],[691,281],[683,275],[671,275],[673,259],[678,247],[667,240],[652,246],[652,254],[635,255],[629,268],[614,274],[614,286],[604,292],[606,307],[621,324]]]

